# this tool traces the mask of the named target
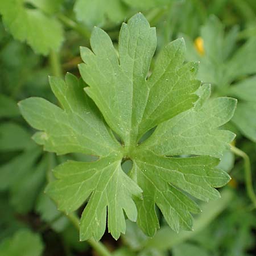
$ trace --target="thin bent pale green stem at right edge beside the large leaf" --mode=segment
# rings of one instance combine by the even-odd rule
[[[253,181],[251,179],[251,164],[249,156],[240,150],[237,147],[231,145],[231,151],[238,156],[241,156],[244,162],[245,167],[245,183],[246,183],[246,191],[247,195],[249,196],[250,200],[253,202],[254,208],[256,208],[256,195],[253,190]]]

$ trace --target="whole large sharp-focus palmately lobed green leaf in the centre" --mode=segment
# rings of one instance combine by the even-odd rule
[[[45,150],[98,156],[56,167],[47,193],[67,214],[86,202],[81,240],[100,240],[106,220],[118,239],[125,214],[153,236],[159,228],[156,206],[172,229],[191,230],[191,213],[200,212],[193,197],[217,199],[215,188],[230,179],[217,165],[234,134],[219,127],[232,118],[236,100],[209,100],[210,86],[195,78],[198,64],[184,63],[183,39],[159,53],[148,76],[156,35],[142,14],[122,24],[118,52],[100,28],[90,42],[92,50],[81,48],[79,66],[86,84],[70,74],[65,81],[49,80],[61,107],[42,98],[19,104]],[[133,161],[128,174],[121,167],[126,159]]]

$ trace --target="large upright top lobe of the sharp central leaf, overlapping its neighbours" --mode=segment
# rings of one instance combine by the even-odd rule
[[[142,14],[122,24],[119,59],[108,34],[100,28],[94,28],[90,43],[93,52],[82,47],[85,64],[79,65],[89,85],[86,93],[126,144],[138,142],[147,130],[191,108],[196,101],[193,92],[200,86],[195,80],[197,64],[183,65],[183,39],[163,49],[147,79],[156,35]]]

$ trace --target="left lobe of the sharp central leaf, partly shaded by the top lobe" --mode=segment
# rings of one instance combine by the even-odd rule
[[[63,109],[43,98],[28,98],[19,103],[27,122],[43,130],[34,135],[37,143],[57,154],[81,152],[105,156],[119,148],[100,113],[83,92],[85,85],[81,81],[68,73],[66,83],[55,77],[49,82]]]

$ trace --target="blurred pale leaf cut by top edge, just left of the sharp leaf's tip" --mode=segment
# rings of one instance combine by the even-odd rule
[[[119,23],[126,16],[126,8],[120,0],[76,0],[74,11],[77,20],[89,26],[102,26],[106,20]]]

